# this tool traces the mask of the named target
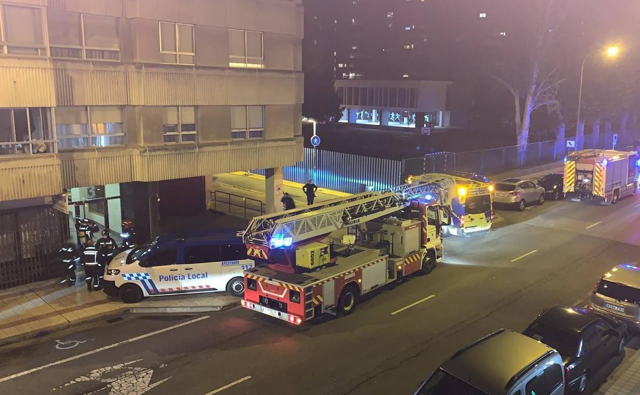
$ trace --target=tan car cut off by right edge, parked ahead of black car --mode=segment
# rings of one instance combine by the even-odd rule
[[[589,309],[625,321],[640,331],[640,264],[620,264],[593,288]]]

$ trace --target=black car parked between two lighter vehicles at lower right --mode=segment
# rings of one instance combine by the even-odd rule
[[[625,350],[627,325],[586,309],[555,306],[523,332],[555,348],[563,357],[568,391],[584,392],[589,377]]]

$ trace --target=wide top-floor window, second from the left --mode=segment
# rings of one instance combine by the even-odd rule
[[[120,60],[118,19],[66,12],[47,17],[52,58]]]

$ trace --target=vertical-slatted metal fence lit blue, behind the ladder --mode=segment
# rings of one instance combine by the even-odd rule
[[[322,188],[358,193],[399,184],[402,166],[402,161],[392,159],[317,150],[314,168],[314,150],[305,148],[303,161],[284,168],[284,179],[301,184],[312,179]],[[264,170],[252,170],[252,173],[264,175]]]

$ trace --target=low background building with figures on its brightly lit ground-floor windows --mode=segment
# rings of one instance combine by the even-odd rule
[[[449,81],[339,79],[339,122],[395,127],[449,127]],[[420,117],[425,123],[416,123]]]

